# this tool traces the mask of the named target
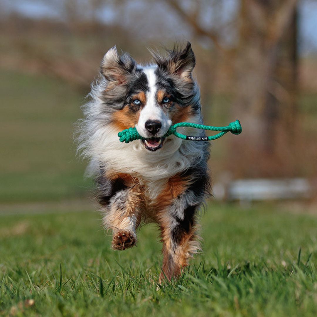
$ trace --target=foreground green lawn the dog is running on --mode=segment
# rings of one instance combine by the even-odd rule
[[[50,208],[44,211],[55,209]],[[2,215],[0,311],[18,316],[317,314],[316,216],[270,205],[210,204],[201,223],[203,253],[180,280],[159,287],[161,246],[153,225],[140,230],[136,248],[120,252],[110,249],[100,215],[83,205],[77,212]]]

